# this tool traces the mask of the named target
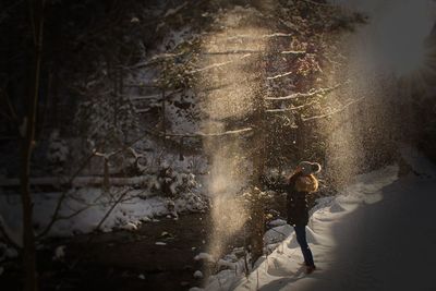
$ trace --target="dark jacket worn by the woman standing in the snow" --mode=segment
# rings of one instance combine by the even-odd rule
[[[302,177],[302,173],[295,173],[288,183],[287,213],[288,223],[291,226],[306,226],[308,222],[308,192],[298,191],[295,187],[296,181]]]

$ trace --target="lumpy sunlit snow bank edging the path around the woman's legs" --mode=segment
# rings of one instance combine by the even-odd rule
[[[389,166],[359,175],[336,197],[317,201],[306,229],[307,242],[318,266],[317,272],[328,268],[326,262],[329,262],[330,250],[336,244],[331,230],[334,223],[360,205],[379,202],[383,198],[382,191],[398,179],[397,173],[398,167]],[[305,277],[303,257],[293,229],[282,225],[282,221],[274,221],[272,225],[278,226],[264,237],[268,255],[256,262],[249,277],[245,277],[244,265],[241,264],[240,271],[227,268],[211,276],[205,290],[300,290],[299,287],[315,280],[312,276]]]

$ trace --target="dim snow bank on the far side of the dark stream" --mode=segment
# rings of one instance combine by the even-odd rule
[[[114,207],[117,199],[123,195]],[[59,214],[61,218],[51,228],[50,237],[70,237],[76,233],[88,233],[96,230],[101,219],[110,211],[101,223],[100,230],[113,229],[134,231],[144,221],[154,217],[183,211],[201,211],[206,209],[206,197],[196,192],[186,192],[170,199],[162,196],[150,196],[148,191],[112,187],[108,193],[101,189],[84,187],[71,190]],[[49,223],[61,193],[36,193],[34,195],[34,221],[36,233]],[[8,232],[15,239],[21,237],[21,198],[20,195],[0,195],[0,222],[8,227]],[[15,235],[16,234],[16,235]],[[17,239],[19,240],[19,239]]]

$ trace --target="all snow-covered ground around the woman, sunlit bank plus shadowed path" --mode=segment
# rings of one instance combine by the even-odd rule
[[[399,179],[390,166],[318,201],[307,226],[315,272],[304,274],[294,232],[284,225],[266,233],[274,251],[249,277],[225,270],[206,290],[434,290],[436,168],[411,149],[403,156],[420,177]]]

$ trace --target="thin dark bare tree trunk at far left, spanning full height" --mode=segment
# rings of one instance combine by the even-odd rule
[[[33,201],[31,194],[31,158],[35,146],[35,128],[39,97],[39,74],[43,51],[44,0],[29,1],[34,36],[34,65],[28,95],[27,114],[22,124],[21,197],[23,207],[24,290],[38,289],[36,272],[35,233],[33,230]]]

